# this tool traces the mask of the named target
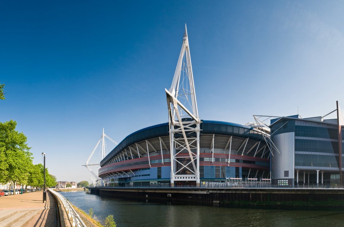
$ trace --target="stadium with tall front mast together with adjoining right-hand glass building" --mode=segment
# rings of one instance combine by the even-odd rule
[[[344,117],[338,101],[322,117],[254,116],[255,122],[246,125],[201,120],[186,27],[172,85],[165,91],[169,122],[138,130],[108,155],[103,152],[94,174],[98,186],[343,184]],[[324,119],[333,112],[336,119]]]

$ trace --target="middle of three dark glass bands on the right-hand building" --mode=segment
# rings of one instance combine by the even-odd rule
[[[295,139],[295,151],[338,154],[338,143],[323,140]]]

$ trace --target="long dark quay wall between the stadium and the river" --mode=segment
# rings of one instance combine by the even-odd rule
[[[182,204],[343,201],[343,189],[269,188],[89,188],[90,193],[128,200]]]

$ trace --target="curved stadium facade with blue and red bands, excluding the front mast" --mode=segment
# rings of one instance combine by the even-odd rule
[[[270,180],[270,152],[260,130],[223,121],[201,121],[201,181]],[[193,140],[195,133],[187,134]],[[176,148],[174,148],[176,149]],[[195,150],[194,148],[191,150]],[[187,163],[187,149],[177,156]],[[181,165],[175,162],[174,165]],[[147,186],[171,183],[169,124],[138,130],[122,140],[101,162],[98,175],[106,186]],[[184,170],[183,177],[188,174]],[[186,176],[187,177],[187,176]],[[175,180],[175,185],[195,181]]]

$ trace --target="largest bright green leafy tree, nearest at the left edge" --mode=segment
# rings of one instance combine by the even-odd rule
[[[32,168],[27,138],[15,130],[17,122],[0,122],[0,183],[26,184]]]

